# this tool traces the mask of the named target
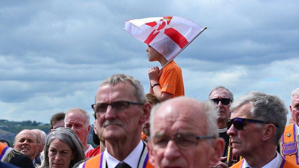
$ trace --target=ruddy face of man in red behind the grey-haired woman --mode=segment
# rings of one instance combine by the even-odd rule
[[[73,111],[65,115],[65,127],[76,132],[83,146],[87,144],[87,136],[90,132],[90,125],[86,115],[79,111]]]

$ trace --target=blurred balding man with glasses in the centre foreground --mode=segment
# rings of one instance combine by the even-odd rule
[[[207,168],[222,155],[216,131],[217,110],[211,102],[177,97],[153,107],[149,160],[155,166]]]

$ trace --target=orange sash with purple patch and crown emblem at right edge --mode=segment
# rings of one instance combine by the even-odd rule
[[[298,165],[298,130],[296,123],[286,126],[280,138],[280,155]]]

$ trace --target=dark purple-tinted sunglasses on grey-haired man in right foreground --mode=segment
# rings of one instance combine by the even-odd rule
[[[234,118],[234,119],[226,119],[226,127],[227,129],[229,129],[231,128],[231,125],[234,124],[234,128],[236,130],[242,130],[246,125],[246,121],[251,123],[273,124],[261,120],[254,120],[254,119],[247,119],[247,118]],[[276,124],[274,124],[274,126],[278,127],[278,125]]]

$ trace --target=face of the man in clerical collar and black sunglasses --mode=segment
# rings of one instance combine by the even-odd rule
[[[210,95],[210,99],[223,99],[223,98],[231,99],[229,92],[224,88],[216,89]],[[219,103],[215,106],[219,108],[219,114],[217,118],[218,129],[225,128],[226,119],[231,117],[231,112],[229,111],[231,102],[228,105],[223,105],[221,101],[219,101]]]

